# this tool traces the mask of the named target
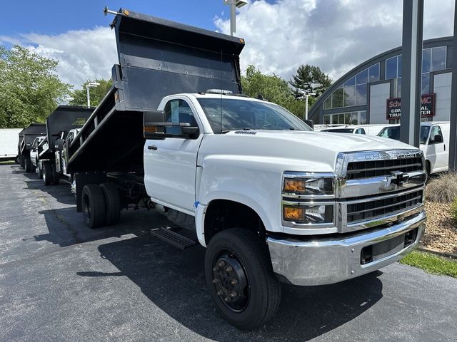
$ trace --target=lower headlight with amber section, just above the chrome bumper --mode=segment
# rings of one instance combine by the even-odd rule
[[[283,219],[296,224],[331,224],[333,204],[283,204]]]

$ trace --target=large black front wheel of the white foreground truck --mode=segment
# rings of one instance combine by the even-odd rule
[[[221,271],[221,266],[226,268]],[[205,277],[219,313],[241,330],[261,326],[278,310],[281,284],[273,274],[268,247],[247,229],[226,229],[211,239],[205,255]],[[229,301],[227,293],[231,293]]]

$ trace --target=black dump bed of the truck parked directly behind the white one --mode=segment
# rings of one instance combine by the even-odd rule
[[[54,152],[55,142],[63,130],[73,130],[83,127],[86,120],[94,112],[94,108],[79,105],[59,105],[59,107],[46,118],[46,137],[49,152]]]

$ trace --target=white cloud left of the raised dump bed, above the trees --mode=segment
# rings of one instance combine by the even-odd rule
[[[58,35],[36,33],[19,37],[0,36],[0,43],[20,43],[41,56],[59,61],[61,81],[80,88],[87,79],[110,78],[111,67],[119,63],[114,31],[108,27],[68,31]]]

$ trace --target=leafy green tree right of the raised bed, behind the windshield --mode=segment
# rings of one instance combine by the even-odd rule
[[[273,74],[266,75],[254,66],[248,66],[246,76],[241,76],[243,93],[252,98],[262,95],[265,100],[281,105],[298,117],[303,117],[305,104],[293,96],[287,81]]]

